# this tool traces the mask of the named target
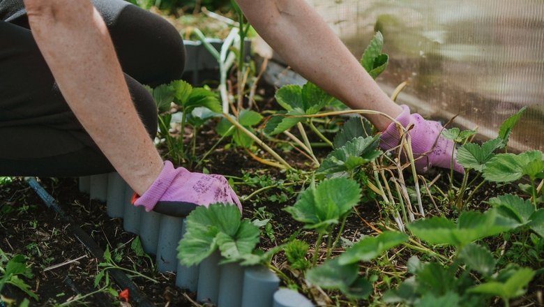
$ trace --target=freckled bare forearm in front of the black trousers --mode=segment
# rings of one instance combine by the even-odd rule
[[[140,195],[163,161],[130,98],[102,17],[89,0],[24,0],[36,43],[82,126]]]

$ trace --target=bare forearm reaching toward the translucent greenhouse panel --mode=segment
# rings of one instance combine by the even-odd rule
[[[354,109],[396,117],[402,108],[381,91],[305,0],[237,0],[249,22],[297,73]],[[368,116],[379,130],[391,123]]]

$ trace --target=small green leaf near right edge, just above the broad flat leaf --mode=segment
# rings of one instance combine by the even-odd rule
[[[529,200],[524,200],[517,195],[500,195],[488,200],[488,204],[496,207],[499,213],[509,218],[514,218],[522,225],[529,223],[534,206]]]

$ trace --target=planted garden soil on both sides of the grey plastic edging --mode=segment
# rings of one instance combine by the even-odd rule
[[[361,61],[372,77],[387,63],[380,36]],[[504,153],[522,111],[484,144],[471,143],[475,131],[445,131],[460,144],[458,159],[469,177],[447,170],[418,177],[409,164],[395,163],[392,152],[379,150],[368,123],[347,116],[352,111],[314,84],[275,89],[245,77],[250,90],[236,101],[237,81],[257,73],[244,68],[247,73],[222,70],[228,74],[222,75],[221,97],[229,99],[227,91],[234,97],[229,108],[236,117],[220,114],[225,107],[217,93],[181,80],[151,89],[163,156],[190,170],[225,175],[244,206],[243,222],[234,216],[229,223],[239,228],[229,234],[220,229],[227,222],[196,225],[192,218],[220,210],[233,216],[233,207],[195,209],[187,223],[205,227],[213,243],[193,254],[180,248],[189,253],[180,253],[182,263],[220,250],[222,260],[268,266],[282,287],[319,306],[543,304],[543,154]],[[130,303],[130,292],[123,298],[125,289],[109,274],[114,269],[156,306],[201,304],[196,293],[176,287],[176,274],[158,272],[139,237],[126,232],[120,218],[108,217],[104,202],[81,193],[77,179],[42,178],[40,184],[105,251],[102,259],[24,179],[0,179],[3,305]],[[258,234],[242,237],[242,224]],[[198,235],[188,230],[183,240]],[[239,239],[249,248],[225,249],[225,242]]]

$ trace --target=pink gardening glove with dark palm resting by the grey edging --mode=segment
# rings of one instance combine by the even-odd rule
[[[216,174],[189,172],[183,167],[174,169],[170,161],[144,195],[133,198],[135,206],[143,206],[147,212],[153,210],[171,216],[186,216],[197,206],[216,202],[236,204],[242,211],[242,204],[229,186],[227,179]]]

